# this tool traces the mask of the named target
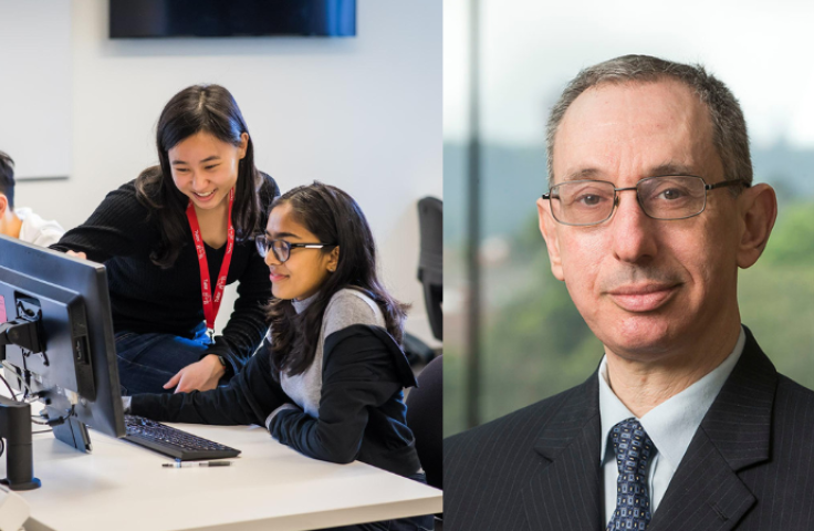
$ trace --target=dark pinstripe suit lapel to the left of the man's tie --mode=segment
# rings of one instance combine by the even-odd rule
[[[594,373],[570,392],[572,396],[535,442],[543,465],[522,492],[531,530],[602,529],[596,378]]]

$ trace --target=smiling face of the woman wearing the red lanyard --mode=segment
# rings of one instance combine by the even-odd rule
[[[229,190],[238,181],[238,166],[246,156],[248,143],[246,133],[239,146],[207,132],[188,136],[167,152],[175,186],[197,209],[211,210],[225,205]]]

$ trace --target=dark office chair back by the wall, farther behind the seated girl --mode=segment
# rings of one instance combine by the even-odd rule
[[[432,335],[443,340],[443,204],[435,197],[418,201],[418,226],[421,243],[418,254],[418,280],[424,284],[424,301],[427,306]]]

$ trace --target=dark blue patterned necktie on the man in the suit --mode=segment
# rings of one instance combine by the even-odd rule
[[[650,492],[647,469],[656,457],[656,446],[635,418],[628,418],[610,431],[619,477],[616,480],[616,511],[607,531],[644,531],[650,523]]]

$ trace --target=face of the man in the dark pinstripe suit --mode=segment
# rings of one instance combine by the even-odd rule
[[[676,174],[723,180],[707,108],[686,85],[604,84],[565,113],[554,184],[598,179],[623,188]],[[613,217],[593,227],[557,223],[547,201],[538,208],[552,271],[594,334],[620,356],[653,360],[729,335],[740,323],[742,196],[714,190],[700,216],[665,221],[648,218],[635,191],[622,191]]]

